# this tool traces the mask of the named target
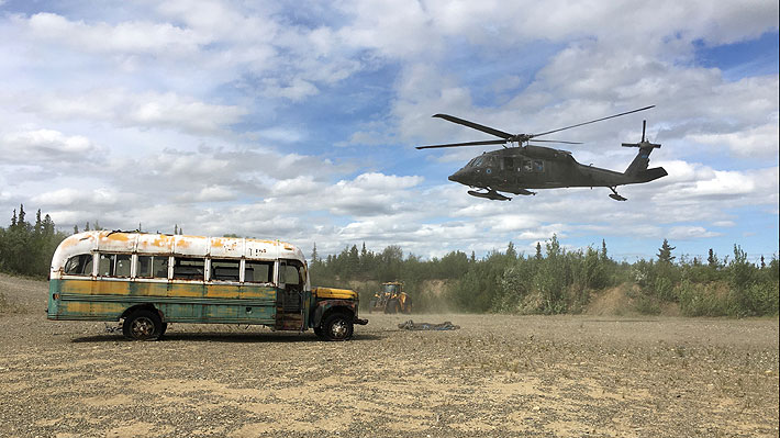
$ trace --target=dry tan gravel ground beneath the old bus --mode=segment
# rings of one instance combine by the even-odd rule
[[[364,315],[349,342],[46,321],[0,274],[3,437],[778,436],[778,321]],[[115,327],[111,323],[108,328]]]

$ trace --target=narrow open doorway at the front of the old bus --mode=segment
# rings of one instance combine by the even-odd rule
[[[276,329],[303,330],[305,268],[298,260],[279,260],[276,294]]]

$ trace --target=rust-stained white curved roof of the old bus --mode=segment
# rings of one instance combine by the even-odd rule
[[[250,260],[286,258],[305,262],[300,249],[279,240],[96,231],[63,240],[54,252],[52,270],[63,267],[73,256],[93,251]]]

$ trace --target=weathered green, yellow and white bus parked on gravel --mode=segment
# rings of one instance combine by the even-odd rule
[[[314,288],[300,249],[281,242],[85,232],[57,247],[48,319],[120,321],[125,337],[159,338],[168,323],[256,324],[346,340],[350,290]]]

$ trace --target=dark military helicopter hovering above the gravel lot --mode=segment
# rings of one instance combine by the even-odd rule
[[[624,172],[602,169],[593,166],[584,166],[571,156],[568,150],[554,149],[550,147],[528,144],[530,141],[539,143],[561,143],[577,145],[580,142],[564,142],[553,139],[537,139],[543,135],[548,135],[572,127],[588,125],[608,119],[620,117],[622,115],[636,113],[654,108],[655,105],[627,111],[620,114],[609,115],[578,123],[576,125],[560,127],[541,134],[510,134],[467,120],[458,119],[448,114],[435,114],[434,117],[444,119],[448,122],[457,123],[483,133],[494,135],[500,139],[488,139],[479,142],[449,143],[444,145],[417,146],[417,149],[428,149],[438,147],[460,147],[479,145],[503,145],[503,149],[483,153],[479,157],[471,159],[457,172],[450,175],[450,181],[469,186],[472,189],[468,194],[478,198],[486,198],[494,201],[511,201],[512,198],[499,192],[531,195],[536,194],[528,189],[557,189],[569,187],[606,187],[612,190],[610,198],[615,201],[626,201],[617,194],[617,186],[637,184],[649,182],[668,173],[662,167],[647,168],[649,156],[653,149],[661,147],[660,144],[650,143],[645,139],[647,121],[642,122],[642,141],[639,143],[623,143],[625,147],[639,148],[634,160]],[[516,145],[508,147],[508,144]]]

